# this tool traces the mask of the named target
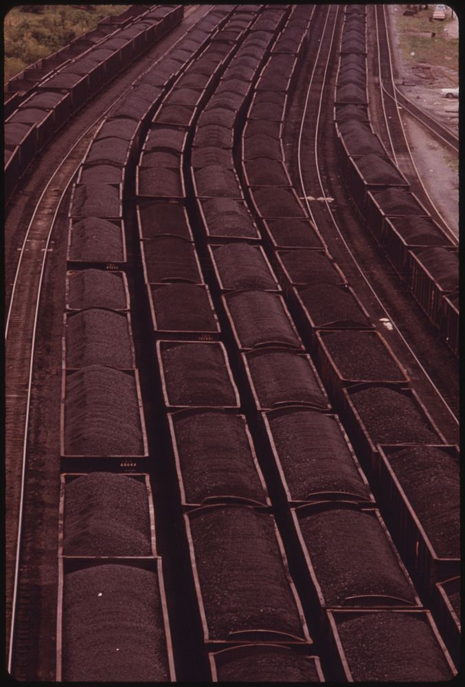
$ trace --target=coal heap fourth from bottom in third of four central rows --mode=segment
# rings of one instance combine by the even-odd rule
[[[328,408],[315,374],[306,358],[291,351],[267,351],[247,356],[260,407],[282,403],[311,403]]]

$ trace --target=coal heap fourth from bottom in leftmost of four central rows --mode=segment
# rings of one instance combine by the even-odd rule
[[[69,315],[66,327],[66,366],[134,367],[131,332],[126,315],[99,308]]]

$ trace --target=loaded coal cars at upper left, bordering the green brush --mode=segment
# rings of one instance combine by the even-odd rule
[[[102,20],[93,32],[41,60],[40,69],[28,68],[8,82],[14,102],[5,104],[6,201],[70,117],[183,18],[182,5],[176,12],[173,5],[133,7],[125,16],[112,17],[114,21]]]

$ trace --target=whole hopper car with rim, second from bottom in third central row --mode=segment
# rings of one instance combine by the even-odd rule
[[[316,501],[292,508],[291,515],[310,606],[321,624],[326,609],[422,606],[373,504]],[[341,574],[345,567],[350,574]]]

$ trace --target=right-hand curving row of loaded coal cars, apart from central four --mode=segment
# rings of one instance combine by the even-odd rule
[[[341,176],[356,210],[429,321],[459,354],[458,251],[409,190],[370,122],[365,20],[341,40],[334,126]]]

